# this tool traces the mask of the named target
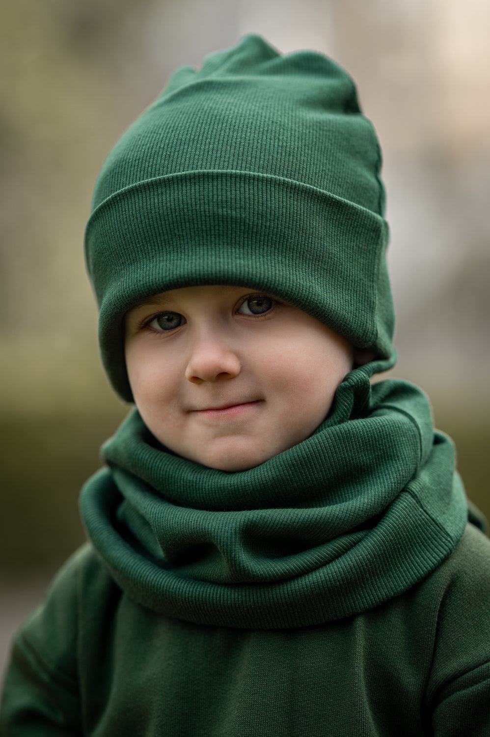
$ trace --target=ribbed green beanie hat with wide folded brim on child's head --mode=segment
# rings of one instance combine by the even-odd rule
[[[278,296],[392,366],[380,162],[354,83],[321,54],[250,35],[178,69],[105,161],[85,234],[120,396],[125,312],[197,284]]]

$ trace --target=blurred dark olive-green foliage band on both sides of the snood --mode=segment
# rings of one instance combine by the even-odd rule
[[[77,497],[125,411],[1,419],[0,573],[53,569],[83,541]],[[490,519],[489,423],[437,411],[436,418],[456,442],[469,497]]]

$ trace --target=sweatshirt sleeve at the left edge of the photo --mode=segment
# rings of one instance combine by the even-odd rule
[[[60,570],[46,600],[15,638],[1,702],[1,737],[82,734],[76,557]]]

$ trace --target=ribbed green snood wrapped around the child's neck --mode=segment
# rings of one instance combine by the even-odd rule
[[[245,472],[169,453],[133,412],[83,490],[83,519],[123,590],[197,624],[281,629],[377,607],[463,534],[451,441],[424,394],[351,371],[326,422]]]

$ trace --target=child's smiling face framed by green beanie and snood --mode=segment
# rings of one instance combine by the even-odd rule
[[[125,319],[141,417],[184,458],[250,469],[307,439],[350,371],[345,338],[249,287],[185,287]]]

